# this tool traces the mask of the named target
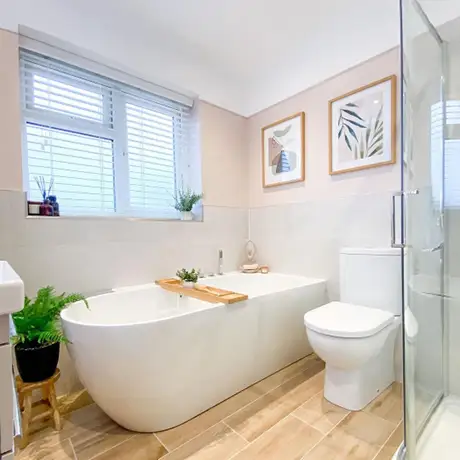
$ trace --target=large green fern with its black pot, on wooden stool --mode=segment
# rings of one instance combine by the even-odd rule
[[[51,377],[59,361],[61,343],[67,343],[60,324],[60,313],[71,303],[82,300],[81,294],[57,295],[47,286],[32,300],[24,299],[24,308],[13,313],[16,334],[14,344],[19,375],[24,382],[40,382]]]

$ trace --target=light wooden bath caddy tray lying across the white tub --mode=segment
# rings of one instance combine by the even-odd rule
[[[155,281],[155,284],[166,289],[167,291],[176,292],[188,297],[203,300],[212,303],[236,303],[248,300],[246,294],[239,294],[238,292],[226,291],[212,286],[205,286],[196,284],[194,288],[186,288],[181,285],[181,282],[175,278],[168,278]]]

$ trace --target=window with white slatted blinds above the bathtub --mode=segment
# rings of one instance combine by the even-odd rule
[[[63,215],[174,218],[191,107],[21,51],[24,170],[52,181]]]

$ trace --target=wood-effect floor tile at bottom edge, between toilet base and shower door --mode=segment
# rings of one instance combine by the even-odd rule
[[[395,425],[366,412],[352,412],[302,460],[372,460]]]

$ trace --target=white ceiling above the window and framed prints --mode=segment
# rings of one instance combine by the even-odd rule
[[[436,23],[460,0],[422,0]],[[399,43],[398,0],[0,0],[18,24],[249,116]]]

